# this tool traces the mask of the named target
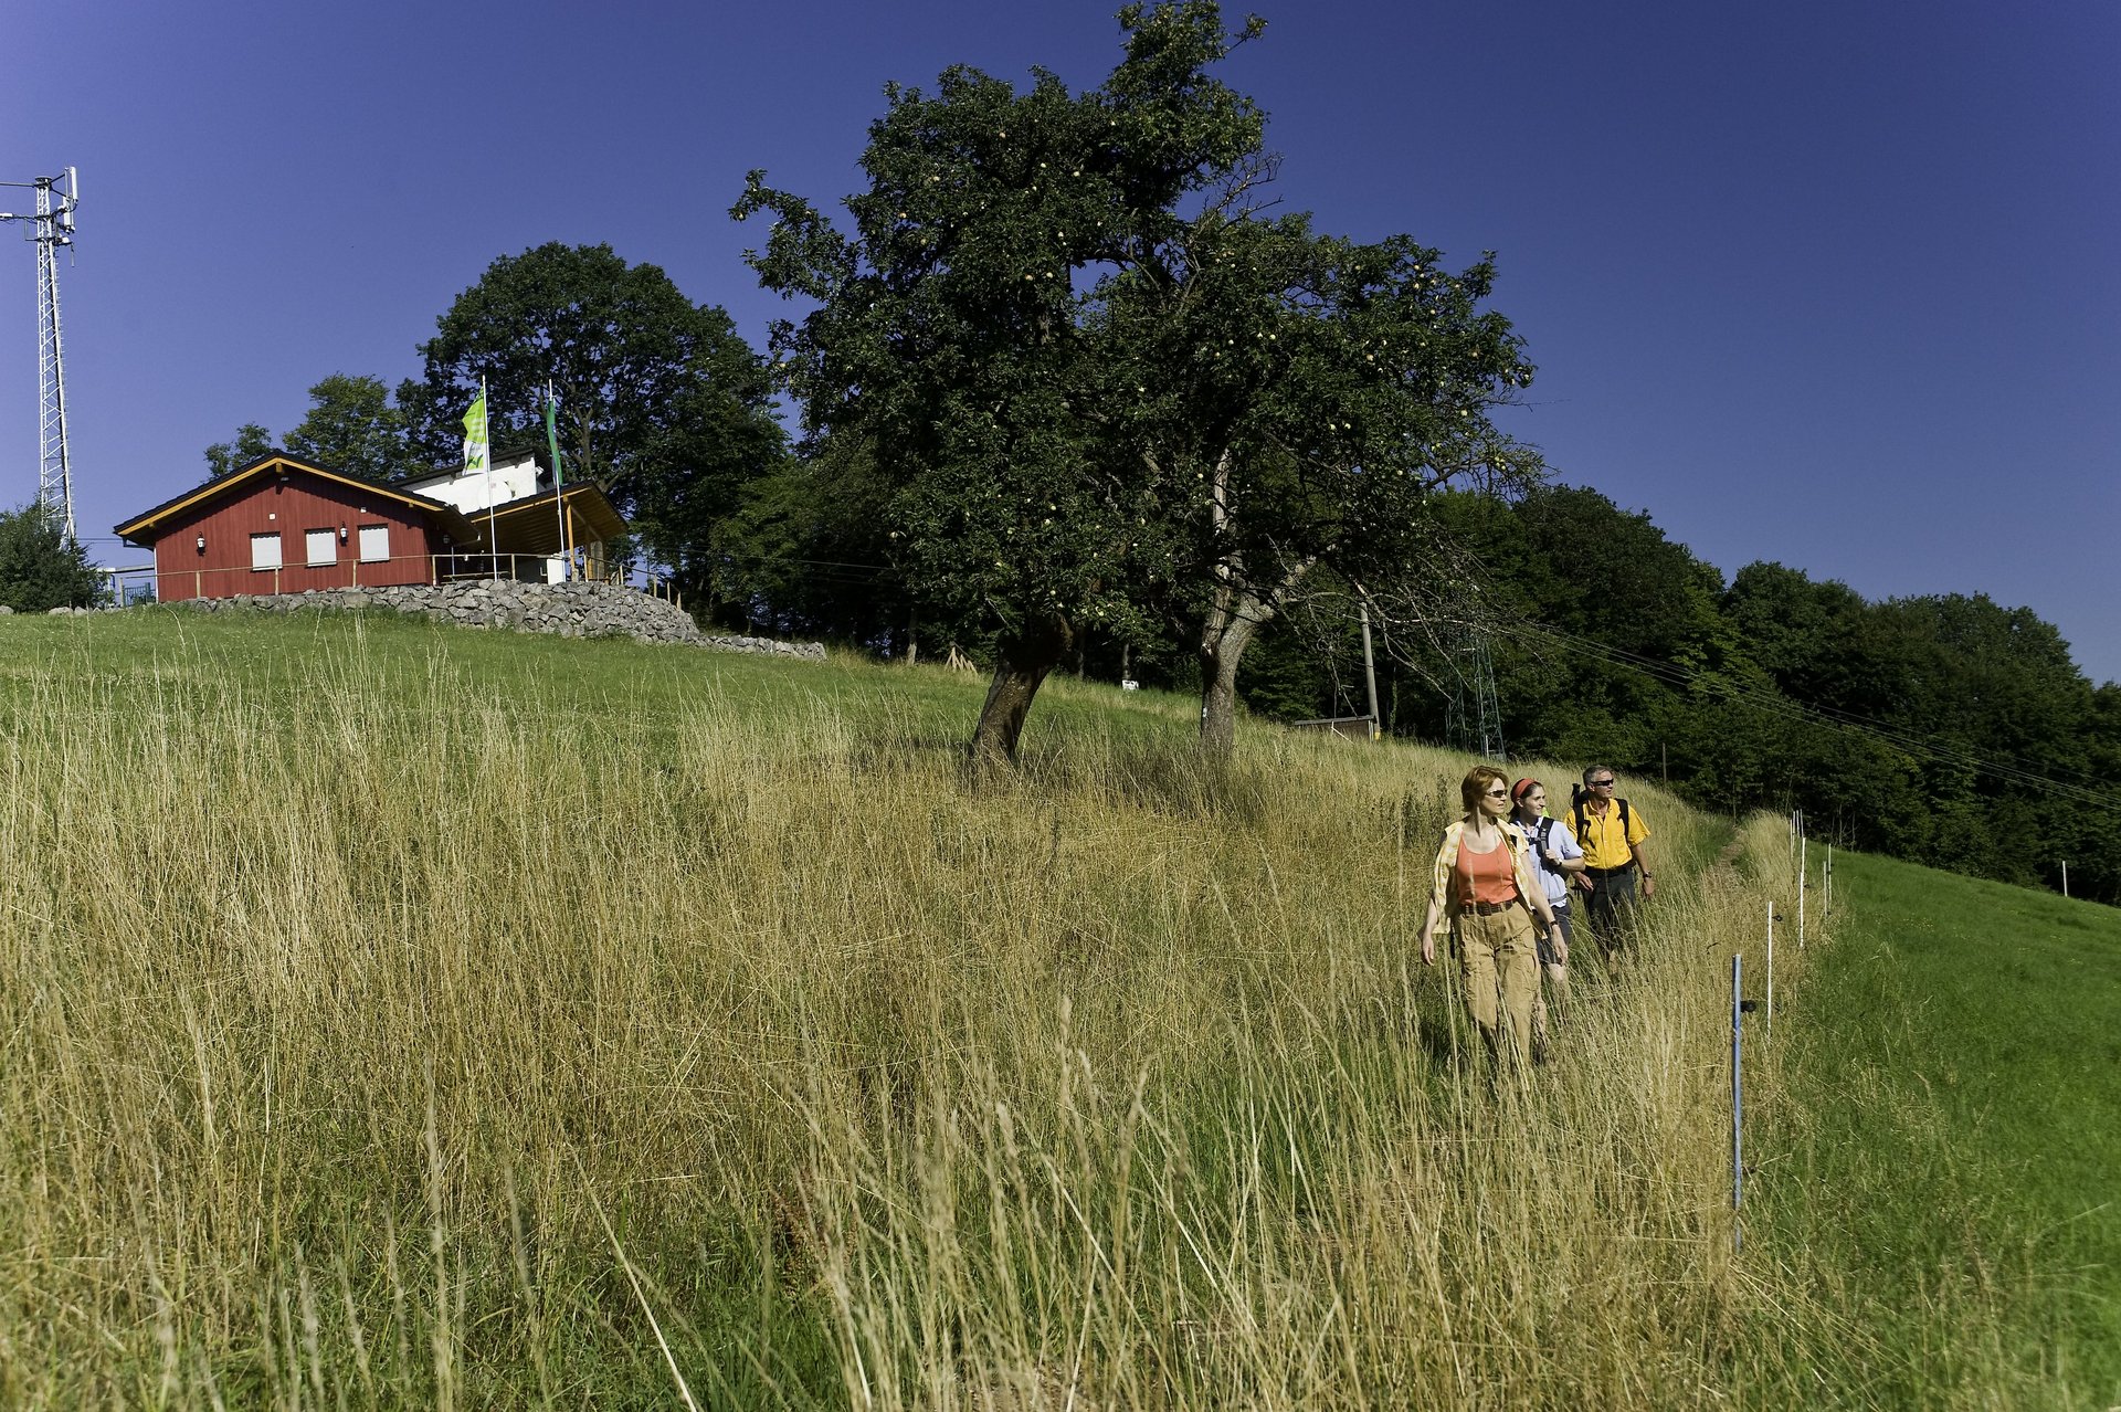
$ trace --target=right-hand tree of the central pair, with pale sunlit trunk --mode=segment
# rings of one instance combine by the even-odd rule
[[[1135,399],[1114,390],[1111,430],[1167,509],[1147,598],[1198,655],[1211,755],[1232,744],[1245,649],[1307,579],[1421,572],[1432,494],[1544,473],[1489,416],[1531,382],[1510,322],[1480,307],[1493,263],[1453,276],[1406,235],[1264,218],[1251,201],[1268,174],[1234,170],[1099,307],[1124,350],[1114,367],[1137,380]]]

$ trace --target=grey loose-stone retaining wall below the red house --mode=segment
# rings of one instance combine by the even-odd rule
[[[651,598],[615,583],[515,583],[509,579],[467,579],[460,583],[414,583],[367,589],[310,589],[305,594],[235,594],[233,598],[185,598],[172,606],[216,613],[257,608],[293,613],[299,608],[395,608],[424,613],[462,628],[513,628],[551,632],[562,638],[624,636],[636,642],[679,642],[728,653],[766,653],[823,661],[821,642],[776,642],[772,638],[725,638],[700,632],[674,602]],[[87,613],[87,608],[74,608]],[[53,608],[68,613],[68,608]]]

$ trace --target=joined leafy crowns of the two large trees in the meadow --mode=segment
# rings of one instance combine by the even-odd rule
[[[776,324],[776,371],[812,439],[874,447],[923,611],[995,632],[1033,689],[1086,632],[1190,640],[1215,740],[1304,575],[1400,568],[1436,486],[1538,479],[1487,418],[1531,369],[1478,307],[1489,261],[1262,214],[1264,117],[1213,72],[1258,21],[1120,23],[1086,93],[969,68],[889,89],[851,235],[761,172],[734,214],[774,218],[747,259],[817,305]]]

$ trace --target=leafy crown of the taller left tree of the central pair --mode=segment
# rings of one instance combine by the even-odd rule
[[[889,89],[853,235],[759,172],[736,206],[774,216],[749,254],[761,282],[819,305],[774,329],[806,428],[874,445],[895,562],[967,630],[1135,619],[1137,530],[1162,509],[1105,439],[1124,354],[1077,282],[1154,244],[1260,140],[1251,102],[1207,72],[1234,42],[1213,4],[1122,28],[1126,59],[1088,93],[969,68],[933,95]]]

